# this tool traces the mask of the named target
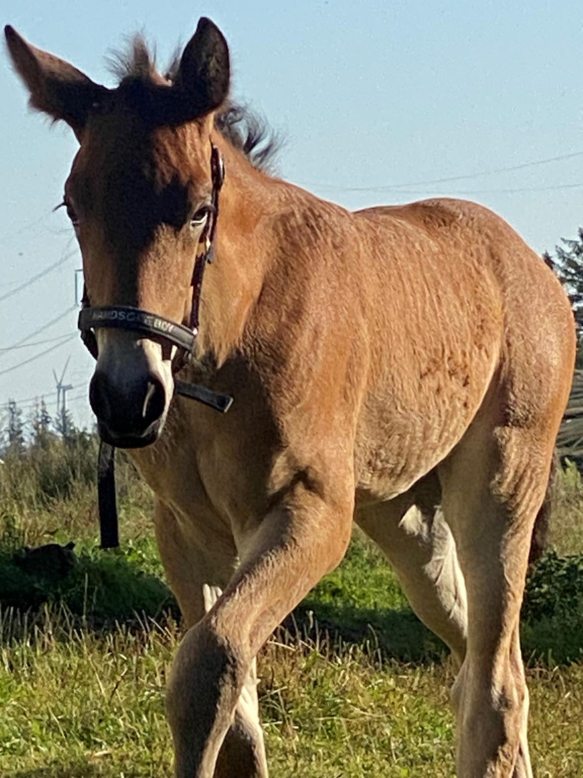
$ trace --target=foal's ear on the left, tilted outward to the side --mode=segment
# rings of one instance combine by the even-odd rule
[[[108,90],[68,62],[31,46],[11,26],[5,26],[4,33],[14,67],[30,92],[31,107],[66,121],[79,137],[89,110]]]

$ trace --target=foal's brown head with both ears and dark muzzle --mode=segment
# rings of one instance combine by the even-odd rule
[[[134,46],[116,89],[7,27],[30,104],[66,121],[79,152],[64,204],[83,258],[93,307],[133,307],[186,324],[195,258],[211,216],[211,129],[229,89],[229,50],[201,19],[168,79]],[[118,447],[154,442],[173,395],[180,349],[163,333],[96,329],[90,401],[104,440]]]

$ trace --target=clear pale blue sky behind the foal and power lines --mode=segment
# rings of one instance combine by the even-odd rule
[[[233,93],[287,138],[283,177],[351,208],[434,195],[477,200],[536,251],[583,224],[581,3],[6,0],[2,11],[2,23],[109,85],[104,54],[124,36],[145,31],[164,63],[198,16],[210,16],[229,40]],[[75,138],[26,110],[6,56],[1,63],[0,405],[44,394],[54,406],[52,369],[70,356],[71,408],[89,423],[92,360],[76,338],[2,350],[61,314],[30,342],[75,333],[75,312],[65,312],[80,260],[65,214],[51,211]],[[20,364],[45,349],[54,350]]]

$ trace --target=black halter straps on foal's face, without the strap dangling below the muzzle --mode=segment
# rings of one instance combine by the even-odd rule
[[[204,244],[204,251],[198,254],[194,261],[194,271],[190,286],[192,287],[192,303],[190,305],[189,326],[177,324],[176,321],[166,319],[159,314],[153,314],[148,310],[134,308],[129,305],[90,305],[87,287],[83,288],[82,308],[79,311],[77,326],[81,332],[81,339],[95,359],[98,356],[97,338],[95,331],[99,328],[131,330],[146,337],[162,340],[178,348],[173,370],[176,373],[187,363],[194,353],[194,342],[198,333],[198,310],[201,303],[202,279],[204,268],[211,263],[215,250],[215,234],[218,219],[218,195],[225,180],[225,166],[221,152],[214,144],[211,144],[211,180],[212,195],[211,209],[208,221],[204,227],[200,243]],[[232,398],[226,394],[201,387],[199,384],[188,384],[186,381],[176,380],[175,394],[182,394],[209,405],[217,411],[226,412],[232,403]]]

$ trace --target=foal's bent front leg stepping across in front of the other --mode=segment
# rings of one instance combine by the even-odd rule
[[[297,474],[246,544],[224,594],[188,630],[167,693],[176,778],[212,778],[253,658],[282,619],[342,559],[351,534],[350,474],[332,493]],[[239,775],[234,759],[227,774]]]

